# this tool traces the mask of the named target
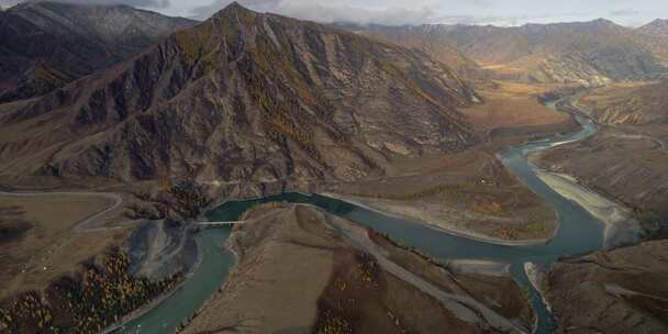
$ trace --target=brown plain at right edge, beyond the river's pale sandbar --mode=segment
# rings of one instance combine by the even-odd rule
[[[599,132],[532,162],[632,208],[650,237],[666,235],[659,222],[668,216],[668,115],[652,96],[665,94],[664,88],[627,84],[584,93],[572,104],[599,122]]]

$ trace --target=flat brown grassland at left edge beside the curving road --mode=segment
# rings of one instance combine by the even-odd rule
[[[123,229],[73,231],[78,222],[111,204],[109,199],[74,194],[0,196],[0,227],[27,227],[0,241],[0,299],[42,289],[124,238]]]

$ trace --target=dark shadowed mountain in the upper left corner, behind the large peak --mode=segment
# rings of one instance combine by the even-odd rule
[[[44,94],[196,22],[130,7],[30,2],[0,12],[0,102]]]

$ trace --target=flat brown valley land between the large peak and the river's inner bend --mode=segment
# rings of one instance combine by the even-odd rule
[[[545,243],[558,224],[552,208],[497,158],[514,145],[578,129],[537,101],[549,86],[498,82],[486,103],[465,111],[487,140],[464,153],[396,158],[382,178],[330,183],[325,191],[453,233],[500,244]]]

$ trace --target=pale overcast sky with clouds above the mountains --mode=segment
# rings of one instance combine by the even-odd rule
[[[0,0],[7,7],[19,0]],[[66,0],[126,3],[170,15],[205,19],[230,0]],[[637,26],[668,19],[668,0],[241,0],[258,10],[319,22],[520,25],[605,18]]]

